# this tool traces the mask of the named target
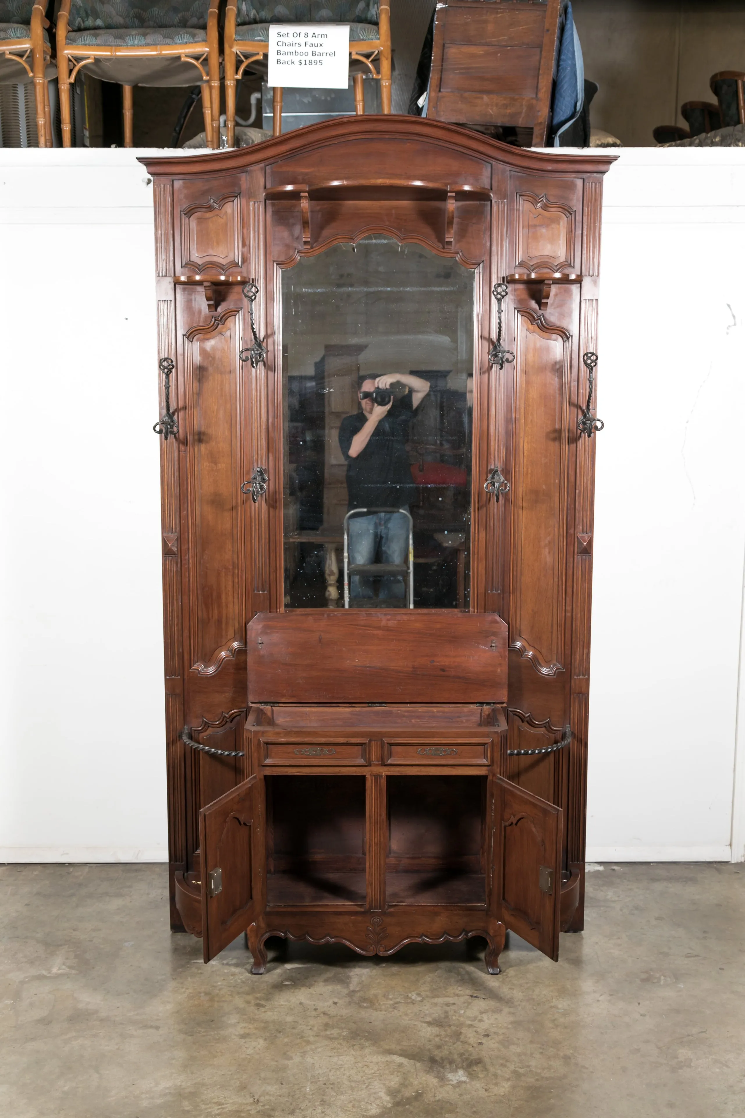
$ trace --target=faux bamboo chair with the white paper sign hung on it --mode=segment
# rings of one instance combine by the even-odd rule
[[[270,23],[348,23],[354,111],[365,111],[365,73],[380,79],[381,108],[391,112],[390,0],[228,0],[225,22],[225,101],[228,146],[236,135],[236,82],[267,73]],[[378,60],[378,69],[375,68]],[[274,87],[274,135],[281,132],[281,86]]]

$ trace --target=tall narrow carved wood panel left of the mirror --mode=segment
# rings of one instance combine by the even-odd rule
[[[189,292],[184,300],[200,297]],[[189,667],[214,674],[245,648],[246,548],[240,311],[183,335]]]

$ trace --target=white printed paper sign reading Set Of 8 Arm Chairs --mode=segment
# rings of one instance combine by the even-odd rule
[[[348,23],[271,23],[269,85],[346,89],[350,84]]]

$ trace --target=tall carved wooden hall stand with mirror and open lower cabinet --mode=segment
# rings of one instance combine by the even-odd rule
[[[386,116],[144,162],[172,927],[206,959],[246,931],[257,973],[269,936],[555,958],[611,158]]]

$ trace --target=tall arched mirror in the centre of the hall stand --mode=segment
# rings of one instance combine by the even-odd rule
[[[283,272],[286,607],[468,608],[474,284],[382,236]]]

